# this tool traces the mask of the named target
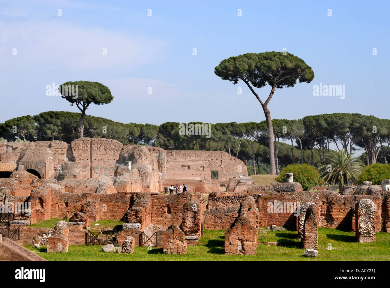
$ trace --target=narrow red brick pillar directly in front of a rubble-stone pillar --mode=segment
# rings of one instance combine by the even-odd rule
[[[318,249],[317,205],[309,204],[303,223],[303,248]]]

